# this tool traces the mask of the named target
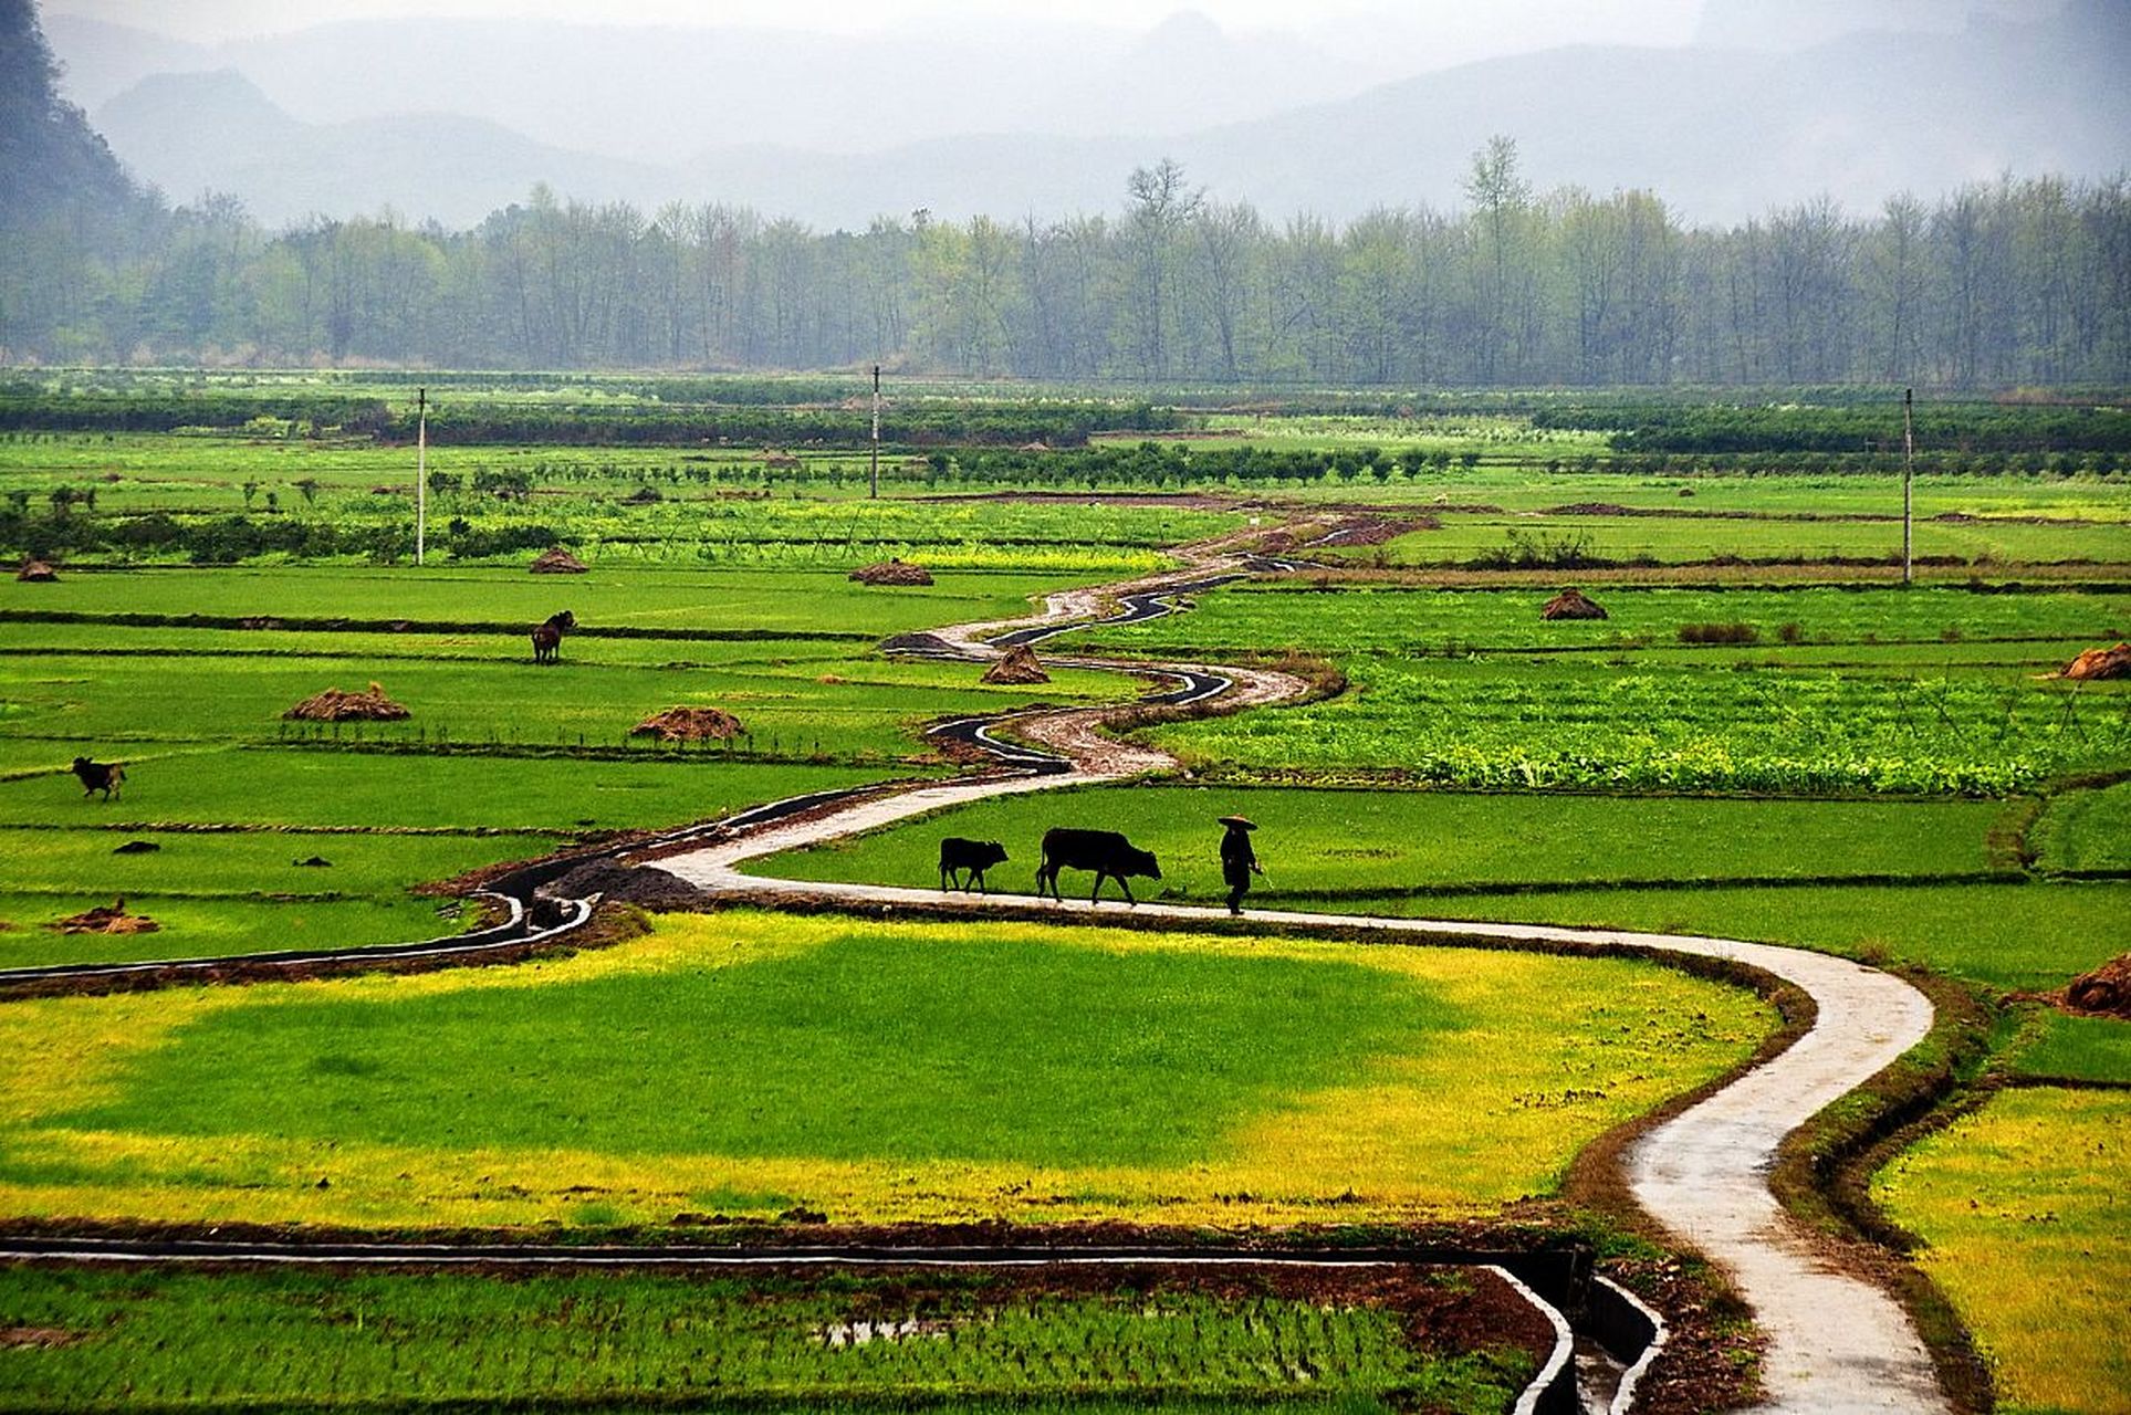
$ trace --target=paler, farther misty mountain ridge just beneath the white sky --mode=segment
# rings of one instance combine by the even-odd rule
[[[774,143],[872,151],[967,132],[1174,132],[1343,98],[1398,70],[1181,13],[1149,32],[1016,19],[878,34],[362,19],[200,49],[58,17],[92,111],[156,72],[234,68],[309,124],[452,111],[567,151],[680,162]],[[126,79],[113,87],[115,79]]]

